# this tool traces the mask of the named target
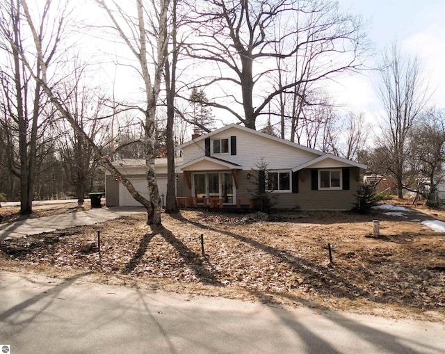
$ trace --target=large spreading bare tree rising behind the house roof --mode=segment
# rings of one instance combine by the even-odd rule
[[[211,86],[209,105],[221,108],[256,129],[257,118],[282,94],[303,100],[302,87],[355,70],[366,44],[362,22],[341,13],[337,3],[301,0],[195,1],[191,12],[195,38],[188,54],[209,67],[195,86]],[[277,28],[281,27],[281,31]],[[277,42],[282,43],[276,46]],[[279,49],[279,50],[278,50]],[[275,86],[276,59],[311,65],[311,70]],[[219,96],[219,98],[218,98]]]

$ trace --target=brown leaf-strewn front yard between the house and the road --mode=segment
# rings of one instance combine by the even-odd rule
[[[163,226],[153,229],[145,217],[2,241],[0,268],[445,321],[445,235],[421,223],[445,221],[444,211],[266,216],[187,210],[164,214]],[[373,219],[380,220],[378,238],[372,236]]]

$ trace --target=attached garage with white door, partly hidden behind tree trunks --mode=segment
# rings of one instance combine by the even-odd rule
[[[178,159],[176,163],[181,163],[181,159]],[[149,199],[144,159],[122,159],[114,161],[113,165],[130,180],[140,195]],[[155,159],[154,168],[159,195],[164,204],[165,195],[167,195],[167,159]],[[105,172],[105,198],[107,207],[141,206],[140,202],[131,197],[127,188],[116,181],[108,171]]]

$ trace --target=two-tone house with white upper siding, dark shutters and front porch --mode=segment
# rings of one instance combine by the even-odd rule
[[[360,174],[367,166],[325,154],[259,131],[229,124],[179,145],[183,164],[178,201],[213,207],[248,204],[261,159],[269,170],[266,185],[275,208],[346,210],[353,207]],[[192,199],[194,198],[194,199]],[[206,199],[204,199],[206,198]],[[193,204],[191,204],[193,202]]]

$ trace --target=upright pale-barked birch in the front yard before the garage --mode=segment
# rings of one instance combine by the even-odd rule
[[[155,151],[155,115],[156,104],[161,90],[161,80],[168,47],[168,0],[160,0],[159,4],[153,2],[149,8],[143,0],[136,0],[136,18],[128,15],[117,1],[110,1],[113,8],[108,6],[105,0],[96,0],[106,15],[111,20],[113,28],[124,41],[131,54],[138,63],[138,72],[143,79],[145,106],[138,109],[145,116],[145,163],[147,188],[153,213],[148,223],[161,223],[161,198],[156,184],[156,172],[154,170]],[[114,10],[113,10],[114,9]],[[147,28],[147,13],[151,13],[149,19],[152,26]],[[156,43],[147,49],[147,43]],[[153,53],[150,57],[149,50]],[[152,74],[150,74],[152,68]]]

